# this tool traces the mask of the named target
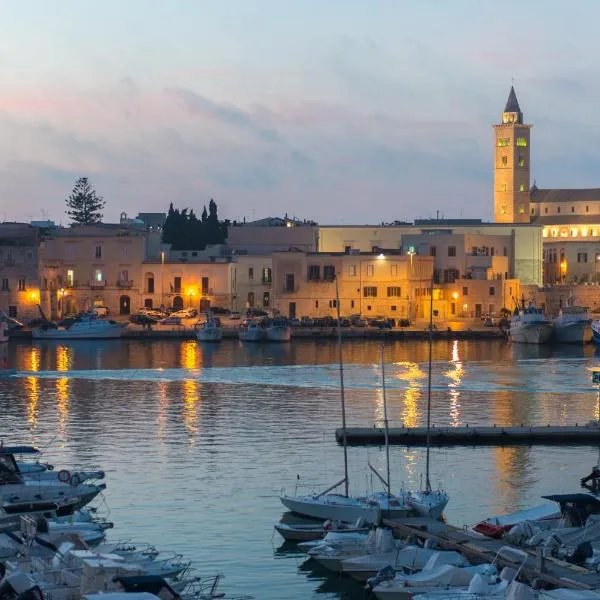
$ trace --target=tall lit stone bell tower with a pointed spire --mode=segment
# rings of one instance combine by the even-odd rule
[[[494,222],[529,223],[530,130],[511,86],[502,113],[494,125]]]

